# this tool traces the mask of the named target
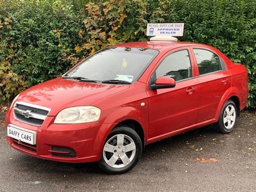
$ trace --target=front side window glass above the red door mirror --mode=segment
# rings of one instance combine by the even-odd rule
[[[161,62],[156,70],[156,78],[172,77],[175,81],[192,77],[188,50],[173,52]]]

